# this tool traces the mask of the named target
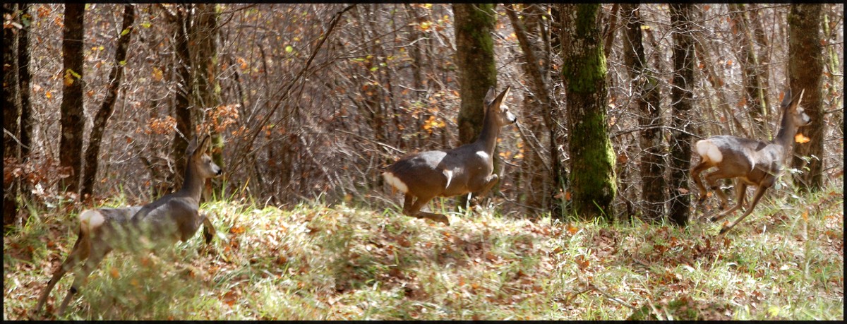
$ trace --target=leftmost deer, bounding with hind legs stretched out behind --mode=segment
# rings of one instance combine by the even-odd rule
[[[143,243],[154,243],[154,248],[173,245],[193,237],[202,224],[206,242],[210,242],[214,227],[206,215],[198,212],[200,195],[207,179],[220,176],[223,171],[207,154],[210,137],[197,138],[186,149],[185,181],[176,193],[170,193],[144,206],[126,208],[86,209],[80,213],[79,237],[67,259],[53,274],[47,288],[38,299],[35,312],[42,309],[47,296],[65,273],[85,261],[75,273],[74,283],[58,308],[64,313],[70,299],[77,293],[100,261],[113,249],[133,249]]]

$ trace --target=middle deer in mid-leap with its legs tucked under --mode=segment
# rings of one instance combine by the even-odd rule
[[[503,126],[518,119],[503,103],[509,87],[495,97],[494,87],[485,96],[485,116],[476,142],[458,148],[411,154],[397,160],[382,176],[385,182],[405,194],[403,213],[450,225],[446,215],[421,211],[435,197],[465,193],[483,195],[500,180],[494,170],[494,148]],[[412,202],[412,200],[414,200]]]

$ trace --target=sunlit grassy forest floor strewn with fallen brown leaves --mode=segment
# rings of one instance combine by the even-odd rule
[[[398,208],[216,202],[202,206],[211,245],[113,252],[62,318],[844,320],[843,188],[783,196],[724,236],[701,214],[678,228],[475,209],[444,226]],[[3,321],[55,318],[31,309],[76,214],[33,215],[3,237]],[[53,289],[51,314],[71,281]]]

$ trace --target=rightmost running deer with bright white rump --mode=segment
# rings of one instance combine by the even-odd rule
[[[721,228],[720,234],[728,232],[744,220],[759,203],[761,196],[767,188],[772,187],[777,181],[777,176],[782,171],[783,161],[790,155],[794,136],[800,126],[809,125],[811,118],[806,115],[800,107],[803,92],[794,100],[791,91],[785,94],[781,110],[783,120],[780,123],[777,136],[771,141],[757,141],[749,138],[718,135],[700,140],[695,145],[697,154],[700,154],[700,164],[691,169],[691,176],[700,189],[700,201],[706,200],[708,190],[700,181],[700,172],[711,167],[717,170],[706,175],[709,188],[721,198],[721,209],[727,208],[727,195],[720,189],[717,180],[735,179],[736,204],[733,208],[723,211],[721,214],[711,218],[711,221],[720,221],[726,215],[732,214],[741,208],[745,202],[747,186],[756,186],[756,193],[745,209],[744,215],[728,226]]]

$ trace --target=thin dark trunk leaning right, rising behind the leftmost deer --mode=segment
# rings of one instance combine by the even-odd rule
[[[124,76],[124,64],[126,64],[126,51],[130,47],[130,37],[132,36],[132,25],[136,20],[136,9],[131,4],[124,5],[124,23],[121,25],[121,34],[118,37],[118,44],[114,51],[114,65],[112,71],[109,72],[109,83],[106,88],[106,98],[103,99],[100,110],[97,110],[97,115],[94,116],[94,125],[91,126],[91,135],[88,139],[88,148],[86,148],[86,167],[82,177],[82,189],[80,196],[83,199],[91,198],[91,193],[94,193],[94,185],[97,183],[97,167],[100,163],[100,143],[102,142],[103,131],[106,131],[108,119],[114,111],[114,103],[118,98],[118,88],[120,81]]]

